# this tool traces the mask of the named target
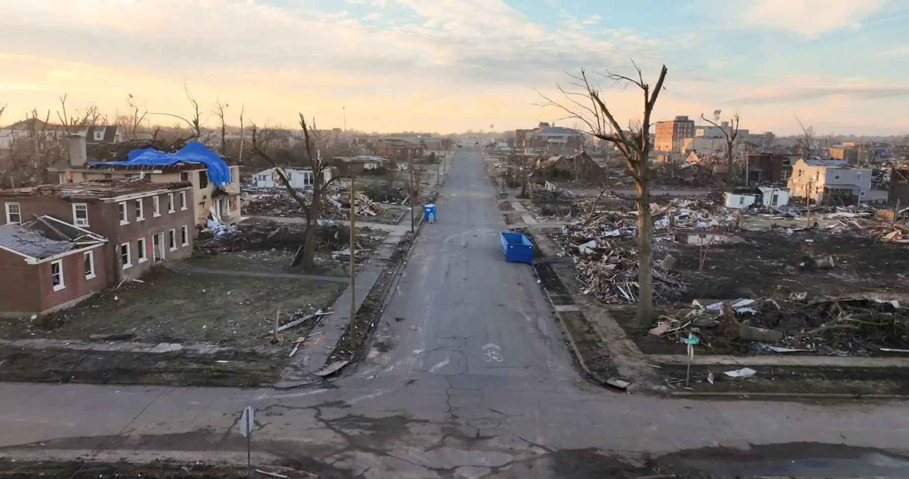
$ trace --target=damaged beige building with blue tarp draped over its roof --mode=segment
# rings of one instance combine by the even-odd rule
[[[144,148],[129,152],[125,161],[94,162],[88,161],[85,138],[70,137],[69,161],[49,171],[58,174],[61,185],[139,177],[161,184],[189,182],[191,225],[205,226],[212,215],[222,223],[240,221],[240,167],[228,165],[200,143],[188,143],[172,154]]]

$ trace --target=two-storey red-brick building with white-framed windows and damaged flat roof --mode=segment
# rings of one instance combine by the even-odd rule
[[[40,216],[104,237],[108,284],[135,279],[152,264],[189,257],[195,215],[189,182],[100,180],[0,190],[5,225]]]

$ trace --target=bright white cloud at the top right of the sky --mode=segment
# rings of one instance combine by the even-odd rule
[[[887,0],[750,0],[732,9],[735,25],[766,28],[813,40],[839,29],[858,30]],[[724,2],[722,5],[729,5]],[[739,4],[742,5],[742,4]]]

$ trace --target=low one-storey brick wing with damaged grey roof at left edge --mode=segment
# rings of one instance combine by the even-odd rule
[[[104,289],[106,242],[53,216],[0,226],[0,317],[65,309]]]

